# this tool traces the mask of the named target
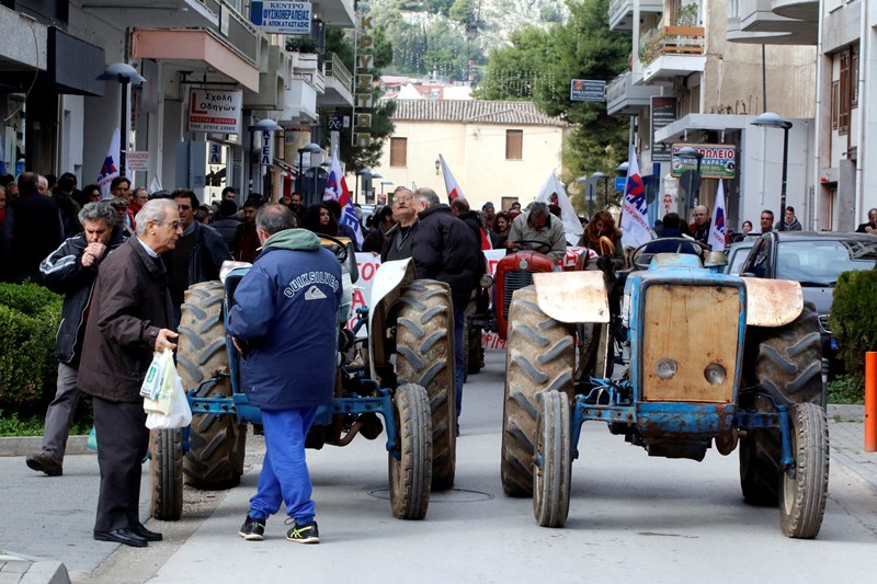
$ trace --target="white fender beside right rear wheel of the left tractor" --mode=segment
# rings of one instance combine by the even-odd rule
[[[411,259],[384,262],[375,272],[372,295],[368,299],[368,356],[372,379],[377,379],[376,365],[386,365],[389,355],[385,351],[384,330],[387,313],[402,291],[402,288],[417,279],[414,262]]]

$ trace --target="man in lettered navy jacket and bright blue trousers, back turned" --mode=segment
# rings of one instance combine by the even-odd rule
[[[341,266],[315,233],[293,229],[283,205],[260,208],[255,226],[262,253],[235,290],[226,322],[265,432],[258,490],[239,535],[261,540],[265,520],[285,503],[293,524],[286,539],[318,543],[305,437],[334,392]]]

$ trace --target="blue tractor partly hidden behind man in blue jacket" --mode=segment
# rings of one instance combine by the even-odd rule
[[[345,300],[338,319],[335,398],[320,409],[306,447],[345,446],[356,435],[375,439],[386,427],[392,514],[422,519],[431,492],[454,484],[449,288],[415,280],[407,261],[388,262],[375,277],[371,309],[360,309],[349,321],[357,279],[353,248],[328,237],[323,244],[342,264]],[[225,332],[224,314],[248,271],[249,264],[224,266],[221,282],[186,291],[176,360],[193,419],[186,428],[151,433],[150,512],[158,519],[181,517],[183,482],[203,490],[229,489],[243,473],[247,424],[261,424],[261,411],[243,393],[241,356]],[[357,339],[366,323],[372,334]]]

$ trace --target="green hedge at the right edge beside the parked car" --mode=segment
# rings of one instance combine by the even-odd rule
[[[841,274],[829,327],[846,370],[861,378],[865,374],[865,353],[877,351],[877,271]]]

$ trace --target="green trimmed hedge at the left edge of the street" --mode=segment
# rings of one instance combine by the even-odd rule
[[[61,305],[36,284],[0,284],[0,409],[38,411],[55,394]]]

